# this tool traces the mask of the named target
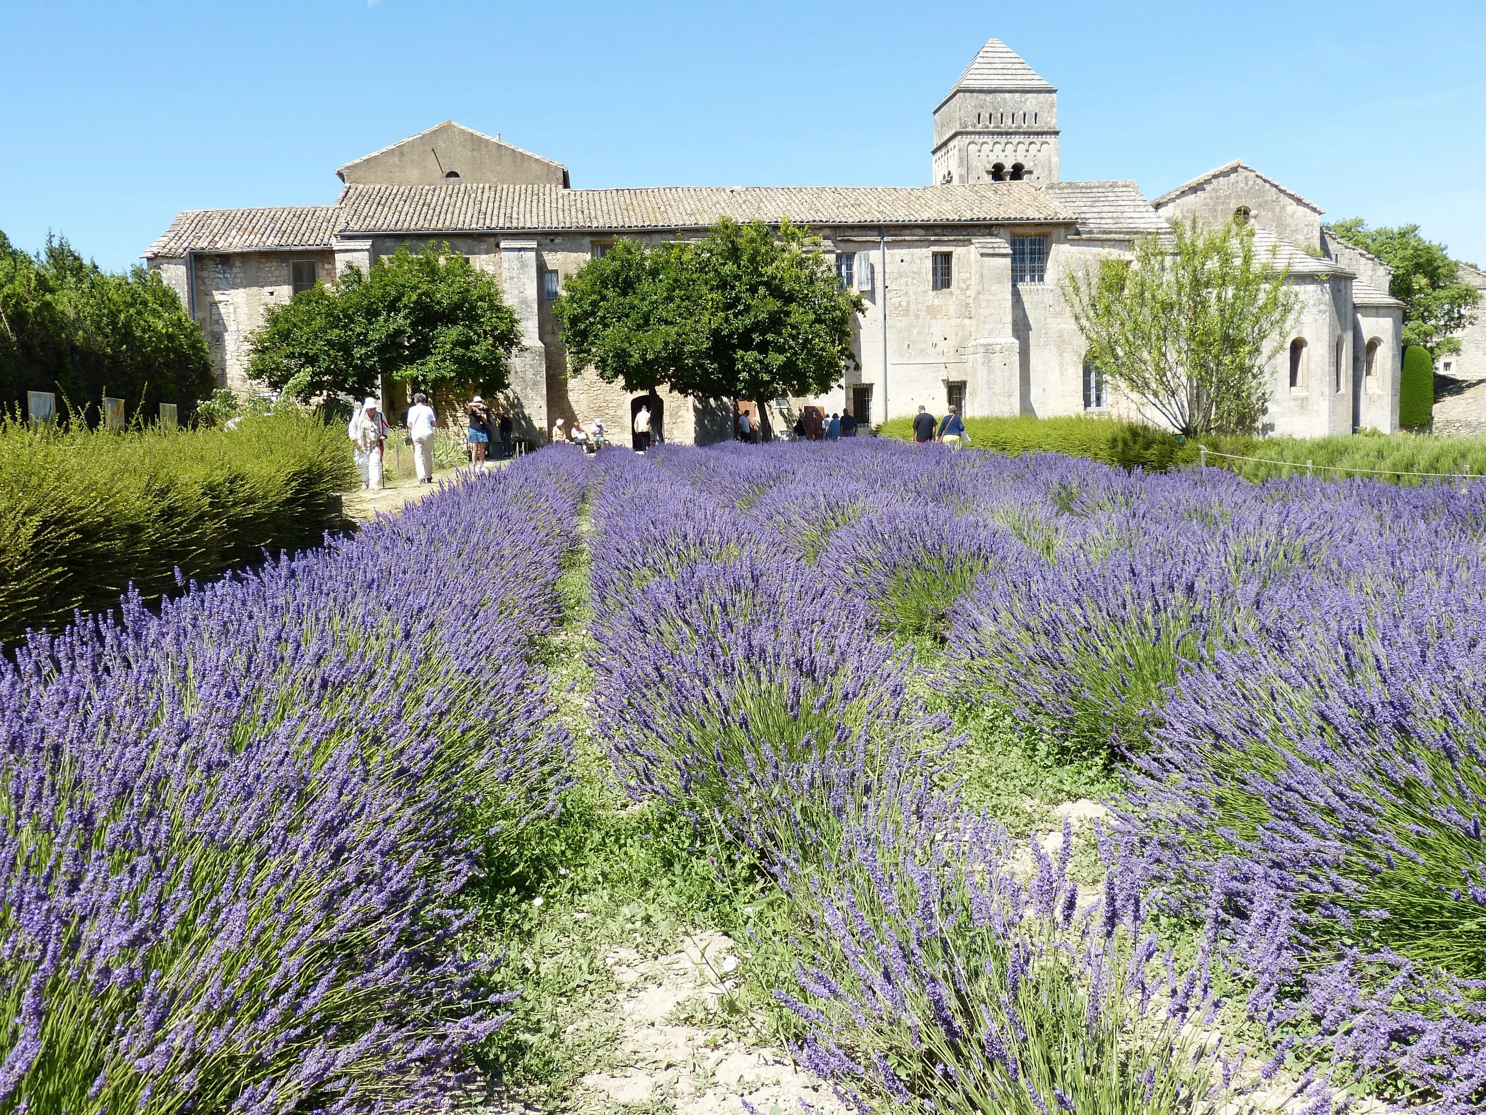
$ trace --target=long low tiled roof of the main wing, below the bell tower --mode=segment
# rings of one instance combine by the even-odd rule
[[[1074,214],[1027,181],[981,186],[346,186],[340,230],[547,232],[704,229],[722,217],[796,224],[1071,223]]]

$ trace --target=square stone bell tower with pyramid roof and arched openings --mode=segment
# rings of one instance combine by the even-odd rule
[[[933,110],[933,180],[1058,181],[1058,91],[1000,39]]]

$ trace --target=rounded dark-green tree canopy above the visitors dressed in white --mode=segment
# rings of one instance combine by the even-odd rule
[[[510,382],[520,342],[490,275],[447,244],[404,247],[270,309],[250,340],[248,375],[306,398],[376,394],[380,376],[493,394]]]

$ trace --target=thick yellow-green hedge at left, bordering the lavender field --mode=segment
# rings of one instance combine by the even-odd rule
[[[0,419],[0,641],[74,608],[175,589],[340,529],[357,482],[339,425],[300,412],[233,430],[33,431]]]

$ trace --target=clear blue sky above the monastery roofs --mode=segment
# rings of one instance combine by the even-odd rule
[[[0,229],[120,268],[444,119],[574,186],[923,184],[990,37],[1058,86],[1065,178],[1244,159],[1486,263],[1483,0],[0,0]]]

